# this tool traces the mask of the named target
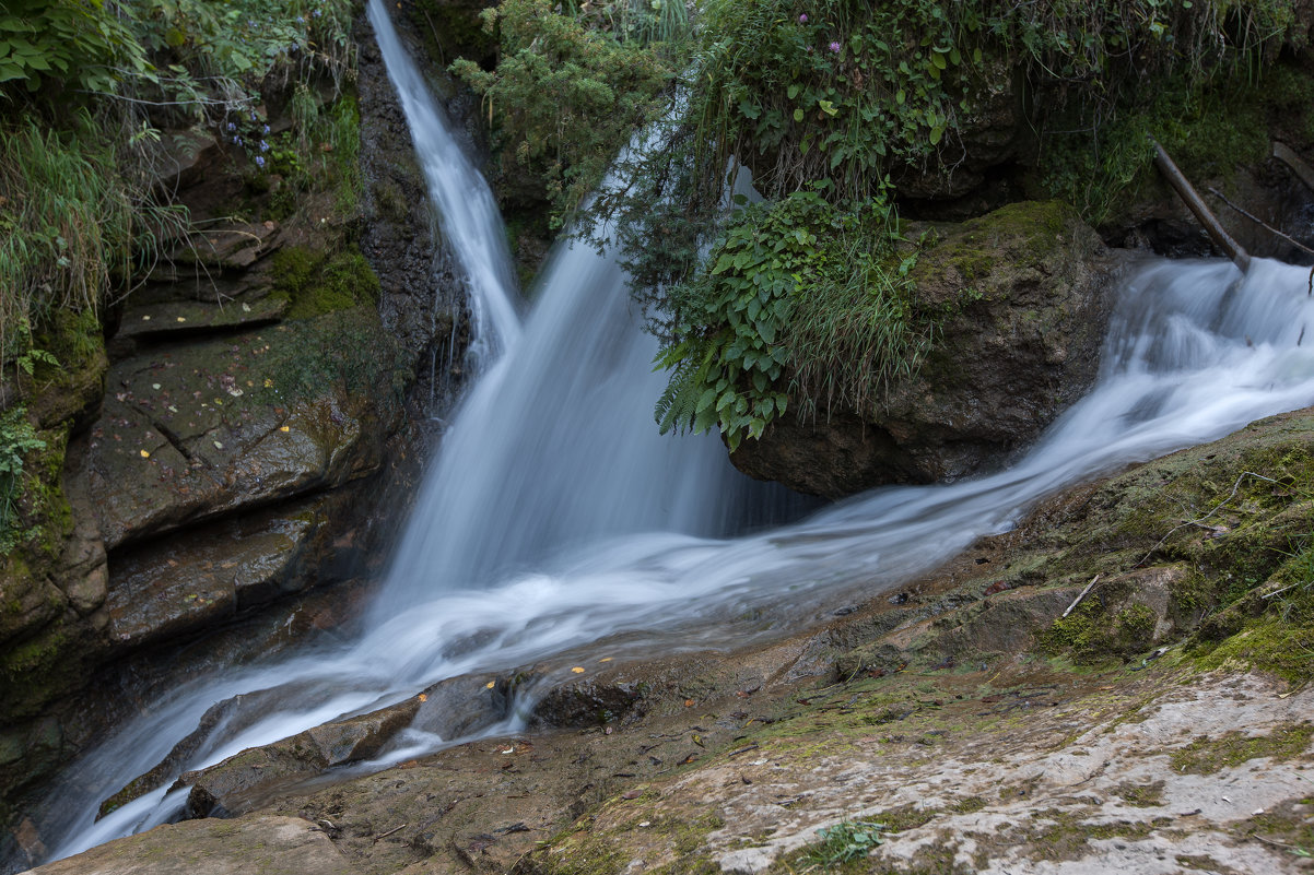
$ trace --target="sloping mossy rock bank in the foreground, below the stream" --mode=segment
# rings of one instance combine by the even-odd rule
[[[1311,434],[1286,414],[1070,490],[767,646],[572,654],[532,732],[365,776],[296,740],[248,752],[192,778],[235,819],[35,871],[1303,871],[1311,595],[1282,589],[1281,544],[1309,524]],[[879,842],[834,868],[855,830]]]

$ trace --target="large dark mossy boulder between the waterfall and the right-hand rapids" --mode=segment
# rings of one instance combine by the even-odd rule
[[[1056,202],[1013,204],[954,226],[913,272],[916,306],[942,314],[920,372],[866,410],[777,420],[731,460],[827,498],[1001,462],[1093,382],[1118,264]]]

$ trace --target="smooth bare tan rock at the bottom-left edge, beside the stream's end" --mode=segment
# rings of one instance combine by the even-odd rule
[[[328,837],[300,817],[168,824],[32,870],[33,875],[351,875],[352,871]]]

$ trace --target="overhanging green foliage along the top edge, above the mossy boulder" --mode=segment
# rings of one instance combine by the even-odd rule
[[[706,166],[740,156],[767,197],[819,180],[865,197],[896,166],[949,172],[963,127],[1014,70],[1042,137],[1071,110],[1099,151],[1102,121],[1158,97],[1147,79],[1227,79],[1302,38],[1285,0],[712,0],[703,18],[689,117],[716,156]]]

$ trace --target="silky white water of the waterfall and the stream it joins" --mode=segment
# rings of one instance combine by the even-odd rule
[[[1301,346],[1314,323],[1307,269],[1256,261],[1243,277],[1225,261],[1155,260],[1120,290],[1095,388],[1009,469],[882,489],[728,537],[771,499],[729,468],[717,440],[656,434],[662,377],[652,373],[654,344],[636,325],[622,269],[587,246],[558,251],[520,326],[491,197],[380,0],[369,16],[469,277],[482,376],[444,438],[367,631],[151,704],[53,786],[42,832],[58,837],[54,857],[175,817],[185,791],[167,791],[172,776],[100,821],[96,811],[217,702],[259,692],[261,706],[218,721],[179,771],[444,678],[603,640],[610,656],[744,645],[928,570],[1066,485],[1314,402],[1314,344]],[[482,734],[518,727],[511,719]],[[373,767],[455,741],[414,730],[405,750]]]

